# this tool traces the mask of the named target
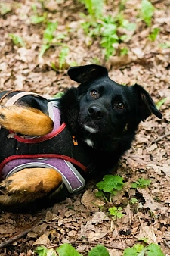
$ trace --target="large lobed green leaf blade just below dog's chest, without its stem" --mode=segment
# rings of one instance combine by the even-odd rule
[[[116,190],[121,190],[123,186],[123,178],[119,175],[105,175],[103,181],[97,183],[97,188],[104,192],[115,194]]]

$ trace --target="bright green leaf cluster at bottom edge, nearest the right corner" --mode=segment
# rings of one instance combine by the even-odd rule
[[[159,245],[150,244],[146,247],[144,245],[136,244],[132,248],[126,248],[123,256],[165,256],[162,254]]]

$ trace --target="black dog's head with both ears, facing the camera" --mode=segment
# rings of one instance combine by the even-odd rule
[[[122,136],[136,130],[152,113],[162,118],[147,91],[138,84],[123,86],[110,80],[105,67],[70,67],[68,74],[81,83],[78,123],[88,133]]]

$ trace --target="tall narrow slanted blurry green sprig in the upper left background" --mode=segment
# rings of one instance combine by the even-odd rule
[[[42,57],[42,55],[44,55],[45,51],[51,47],[51,42],[54,39],[53,33],[56,29],[57,29],[57,22],[48,22],[47,23],[47,27],[43,34],[42,49],[41,49],[41,52],[39,53],[39,57]]]

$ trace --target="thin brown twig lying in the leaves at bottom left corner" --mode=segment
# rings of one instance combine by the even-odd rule
[[[29,233],[29,231],[31,231],[33,228],[35,228],[35,224],[37,224],[36,226],[38,226],[39,224],[42,224],[43,222],[44,222],[44,220],[40,220],[39,223],[37,223],[37,220],[33,221],[31,223],[31,226],[29,225],[29,227],[27,229],[24,229],[22,232],[20,232],[16,236],[11,237],[11,239],[8,239],[7,241],[2,242],[0,244],[0,248],[4,248],[7,245],[12,244],[14,241],[17,241],[17,239],[20,239],[21,237],[26,236],[26,234]]]

